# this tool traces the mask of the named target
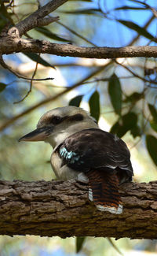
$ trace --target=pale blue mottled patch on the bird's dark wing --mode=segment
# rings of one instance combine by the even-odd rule
[[[76,154],[75,152],[68,151],[65,147],[60,148],[60,156],[64,159],[68,160],[71,164],[74,164],[75,161],[79,161],[79,158],[81,157],[78,154]],[[82,164],[83,161],[79,161],[78,163]]]

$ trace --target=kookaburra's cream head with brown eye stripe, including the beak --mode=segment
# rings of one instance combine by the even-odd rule
[[[37,129],[19,141],[45,141],[56,147],[69,135],[87,128],[98,128],[89,113],[75,106],[59,107],[46,112],[39,119]]]

